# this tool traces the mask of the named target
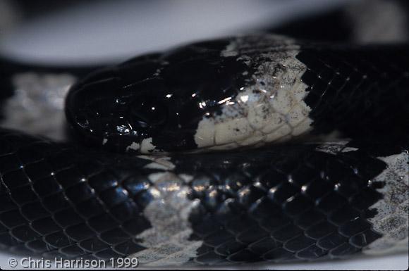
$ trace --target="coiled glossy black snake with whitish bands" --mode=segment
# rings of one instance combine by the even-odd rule
[[[59,113],[2,122],[0,248],[148,267],[407,248],[408,63],[405,43],[270,33],[97,71],[3,61],[3,115]]]

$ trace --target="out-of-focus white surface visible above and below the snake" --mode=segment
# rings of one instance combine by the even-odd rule
[[[35,63],[103,63],[197,39],[272,25],[300,13],[319,11],[343,1],[348,0],[121,0],[93,1],[91,4],[84,1],[81,6],[38,18],[11,33],[3,34],[0,37],[0,54]],[[10,257],[7,253],[0,253],[0,267],[8,267]],[[407,270],[408,253],[245,267],[275,270]]]

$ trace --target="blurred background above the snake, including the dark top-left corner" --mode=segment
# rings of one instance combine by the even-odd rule
[[[274,27],[348,1],[0,0],[0,55],[35,63],[105,63]]]

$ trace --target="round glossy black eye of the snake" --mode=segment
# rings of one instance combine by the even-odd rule
[[[167,119],[166,107],[151,96],[140,96],[130,104],[130,118],[134,125],[143,129],[152,129],[164,124]]]

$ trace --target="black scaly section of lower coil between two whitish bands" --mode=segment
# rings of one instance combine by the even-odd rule
[[[343,258],[381,237],[366,219],[382,184],[368,181],[386,164],[365,149],[334,156],[314,147],[209,153],[183,168],[174,158],[176,170],[202,172],[191,184],[202,203],[192,239],[204,240],[195,262]]]

